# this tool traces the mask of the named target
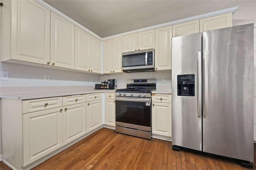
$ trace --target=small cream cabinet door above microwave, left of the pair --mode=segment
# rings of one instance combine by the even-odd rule
[[[138,34],[124,36],[124,52],[135,51],[138,49]]]

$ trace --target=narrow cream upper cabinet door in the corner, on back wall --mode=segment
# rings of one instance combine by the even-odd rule
[[[104,73],[113,71],[113,39],[104,41]]]

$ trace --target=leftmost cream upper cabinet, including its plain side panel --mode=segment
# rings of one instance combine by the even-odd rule
[[[50,62],[50,10],[32,0],[13,0],[4,1],[1,11],[1,61]]]

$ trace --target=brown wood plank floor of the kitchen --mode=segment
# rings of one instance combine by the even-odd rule
[[[254,159],[255,148],[254,145]],[[0,169],[10,168],[0,162]],[[174,151],[172,143],[168,141],[155,138],[147,140],[102,128],[33,169],[240,170],[246,168],[228,160],[184,150]]]

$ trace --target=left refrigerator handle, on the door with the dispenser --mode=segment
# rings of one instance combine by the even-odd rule
[[[198,51],[198,111],[197,116],[202,113],[202,53]]]

